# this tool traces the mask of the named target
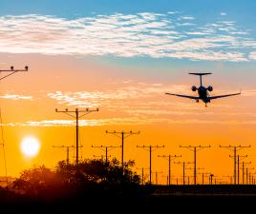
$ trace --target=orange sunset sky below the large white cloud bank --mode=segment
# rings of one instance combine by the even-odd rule
[[[205,85],[210,83],[216,88],[212,94],[236,92],[240,88],[243,94],[216,100],[204,107],[202,103],[164,95],[164,92],[193,94],[190,88],[197,86],[199,81],[186,74],[189,65],[170,68],[170,73],[165,73],[166,68],[162,67],[164,74],[160,77],[160,72],[153,72],[152,68],[145,76],[147,70],[142,66],[125,66],[97,58],[35,54],[1,54],[1,57],[4,64],[0,68],[30,67],[29,72],[14,74],[0,85],[7,166],[11,176],[18,176],[21,170],[32,165],[53,167],[66,158],[66,152],[52,146],[75,145],[75,126],[60,126],[60,123],[69,123],[66,120],[71,118],[55,113],[56,107],[99,107],[99,112],[81,120],[85,125],[80,128],[83,158],[103,154],[92,145],[120,145],[120,139],[107,135],[106,129],[132,129],[141,133],[127,138],[125,160],[135,160],[139,168],[149,165],[148,151],[136,147],[142,145],[165,146],[153,153],[153,171],[157,169],[164,174],[167,174],[167,161],[157,155],[181,154],[182,158],[177,161],[193,161],[193,153],[180,145],[211,145],[212,148],[198,153],[198,165],[216,176],[233,173],[233,162],[228,157],[232,153],[219,145],[251,145],[240,154],[247,154],[245,161],[252,161],[252,166],[256,163],[255,77],[231,76],[232,67],[220,63],[212,65],[216,72],[205,78]],[[222,68],[222,72],[218,68]],[[251,68],[247,68],[247,74],[250,73]],[[40,140],[41,150],[37,157],[28,159],[20,152],[20,142],[25,136]],[[119,148],[110,154],[120,159]],[[2,149],[0,155],[0,174],[4,174]],[[181,176],[181,166],[174,165],[173,173]],[[166,178],[160,176],[159,180],[163,183]]]

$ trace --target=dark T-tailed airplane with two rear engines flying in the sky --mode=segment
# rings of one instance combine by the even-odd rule
[[[205,104],[205,107],[207,107],[207,103],[210,103],[211,100],[241,94],[241,91],[240,91],[239,93],[231,93],[231,94],[225,94],[225,95],[210,96],[209,92],[211,92],[213,90],[213,88],[211,86],[209,86],[208,88],[203,87],[202,76],[203,75],[209,75],[209,74],[212,74],[212,73],[188,73],[188,74],[200,76],[200,87],[196,88],[195,86],[193,86],[191,88],[192,91],[197,91],[198,90],[198,94],[199,94],[198,97],[189,96],[189,95],[175,94],[175,93],[165,93],[165,94],[172,95],[172,96],[178,96],[178,97],[184,97],[184,98],[188,98],[188,99],[193,99],[193,100],[196,100],[197,103],[199,103],[199,101],[202,100],[203,103]]]

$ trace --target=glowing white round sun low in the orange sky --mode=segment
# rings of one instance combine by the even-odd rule
[[[34,137],[25,137],[21,142],[20,148],[24,155],[33,157],[39,152],[40,143]]]

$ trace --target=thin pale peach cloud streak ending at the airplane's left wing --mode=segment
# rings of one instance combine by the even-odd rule
[[[143,99],[151,99],[154,96],[163,97],[167,91],[177,93],[187,92],[186,86],[183,85],[162,86],[162,84],[158,83],[136,84],[129,81],[124,82],[127,86],[105,91],[53,91],[48,92],[47,96],[57,101],[59,105],[67,107],[98,107],[114,106],[118,103],[129,102],[131,100],[143,103]]]

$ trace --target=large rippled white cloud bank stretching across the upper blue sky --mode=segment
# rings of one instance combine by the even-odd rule
[[[228,20],[199,24],[195,23],[195,17],[177,17],[178,14],[177,11],[115,13],[76,19],[39,14],[0,16],[0,50],[53,55],[252,60],[245,50],[256,49],[256,41],[248,36],[247,29]]]

